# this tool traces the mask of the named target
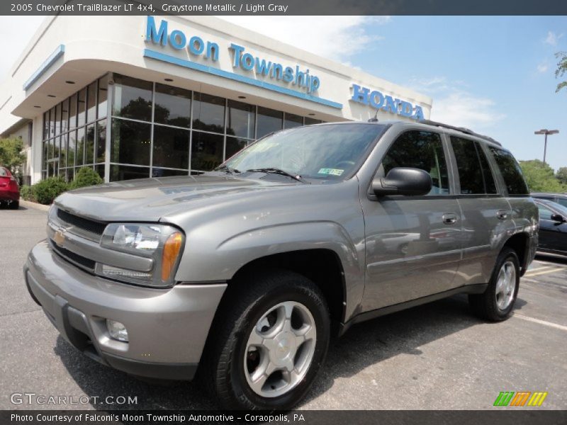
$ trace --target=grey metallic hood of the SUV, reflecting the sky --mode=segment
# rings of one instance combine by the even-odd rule
[[[55,205],[101,221],[157,222],[166,215],[224,198],[274,191],[302,183],[239,179],[232,176],[175,176],[106,183],[63,193]]]

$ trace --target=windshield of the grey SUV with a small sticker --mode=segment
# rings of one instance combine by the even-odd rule
[[[364,161],[386,125],[327,124],[264,137],[225,162],[235,172],[279,169],[303,179],[342,180]]]

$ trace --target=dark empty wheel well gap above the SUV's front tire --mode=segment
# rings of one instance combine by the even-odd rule
[[[229,281],[258,270],[283,268],[301,274],[317,285],[329,306],[332,322],[336,325],[344,318],[344,271],[342,263],[330,249],[305,249],[273,254],[250,261],[242,266]]]

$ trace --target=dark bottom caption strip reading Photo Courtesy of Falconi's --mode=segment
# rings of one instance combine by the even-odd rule
[[[399,410],[296,410],[291,412],[28,410],[0,411],[0,424],[26,425],[160,425],[160,424],[498,424],[563,425],[566,411],[399,411]]]

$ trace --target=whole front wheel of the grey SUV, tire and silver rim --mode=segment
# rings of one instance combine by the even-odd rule
[[[325,297],[289,271],[254,273],[232,285],[203,353],[204,383],[225,409],[291,409],[325,361]]]

